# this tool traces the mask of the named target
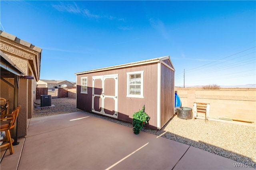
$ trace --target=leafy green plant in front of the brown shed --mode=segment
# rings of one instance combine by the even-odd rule
[[[132,126],[133,126],[133,133],[138,135],[140,133],[140,130],[144,127],[145,124],[148,123],[150,117],[145,112],[145,105],[142,107],[142,110],[139,110],[138,112],[134,113],[132,115]]]

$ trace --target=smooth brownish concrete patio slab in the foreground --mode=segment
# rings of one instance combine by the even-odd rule
[[[243,169],[236,161],[143,131],[135,135],[131,127],[80,111],[30,119],[23,143],[4,156],[1,169]]]

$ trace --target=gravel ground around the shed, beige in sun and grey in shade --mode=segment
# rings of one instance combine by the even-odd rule
[[[40,99],[36,100],[40,104]],[[52,98],[55,107],[49,109],[34,109],[32,117],[42,117],[63,113],[72,113],[76,109],[76,99],[72,98]],[[87,113],[87,112],[86,112]],[[108,121],[132,127],[131,123],[126,123],[98,114],[87,113]],[[254,164],[256,168],[256,127],[245,126],[233,123],[223,123],[202,119],[180,119],[174,116],[161,130],[151,130],[148,128],[142,131],[155,135],[162,135],[167,139],[184,143],[208,152],[235,160],[241,163]]]

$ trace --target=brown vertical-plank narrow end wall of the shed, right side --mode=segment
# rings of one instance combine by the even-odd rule
[[[174,71],[161,64],[161,127],[174,115]]]

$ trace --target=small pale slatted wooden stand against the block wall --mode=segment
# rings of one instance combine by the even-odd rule
[[[194,119],[204,115],[205,122],[206,122],[206,119],[208,120],[208,116],[209,116],[209,112],[210,112],[210,104],[194,102],[193,110],[194,110]]]

